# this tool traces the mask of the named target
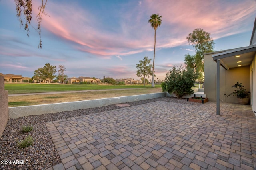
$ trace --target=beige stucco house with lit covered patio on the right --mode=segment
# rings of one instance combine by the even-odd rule
[[[251,92],[250,105],[256,111],[256,19],[249,46],[204,54],[204,74],[204,93],[216,101],[217,115],[220,102],[238,103],[236,96],[224,96],[234,92],[236,82]]]

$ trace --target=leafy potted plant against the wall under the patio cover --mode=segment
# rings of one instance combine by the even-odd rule
[[[237,82],[234,86],[232,86],[234,88],[236,88],[236,90],[234,90],[234,92],[229,92],[228,94],[224,94],[227,97],[228,96],[236,96],[238,97],[238,103],[239,104],[248,104],[249,99],[248,96],[251,94],[249,91],[247,91],[246,89],[244,89],[244,86],[242,85],[242,83]]]

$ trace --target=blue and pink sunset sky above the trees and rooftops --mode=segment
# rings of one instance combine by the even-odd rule
[[[41,2],[32,1],[34,27]],[[20,26],[14,0],[0,0],[0,73],[32,77],[50,63],[65,66],[68,77],[139,80],[136,64],[154,55],[148,19],[159,14],[154,79],[164,80],[195,53],[186,37],[196,28],[211,34],[215,51],[250,45],[256,0],[48,0],[45,12],[40,49],[36,30],[27,37]]]

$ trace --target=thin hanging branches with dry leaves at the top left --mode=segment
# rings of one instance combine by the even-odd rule
[[[32,20],[32,0],[14,0],[15,4],[16,4],[16,11],[17,11],[17,16],[19,18],[20,21],[20,25],[24,25],[24,21],[22,20],[22,18],[25,18],[25,26],[24,29],[27,31],[27,36],[29,36],[29,25],[31,23]],[[44,12],[45,6],[46,6],[46,2],[47,0],[42,0],[42,4],[39,7],[39,13],[36,16],[36,20],[38,22],[37,25],[37,31],[38,34],[40,36],[40,42],[38,45],[38,48],[42,48],[42,41],[41,41],[41,21],[42,21],[42,16],[43,14],[46,14]],[[46,14],[47,15],[47,14]]]

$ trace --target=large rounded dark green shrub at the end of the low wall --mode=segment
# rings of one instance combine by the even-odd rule
[[[194,93],[192,86],[196,82],[198,75],[193,69],[174,66],[166,74],[166,91],[176,94],[178,98],[182,98],[186,94]]]

